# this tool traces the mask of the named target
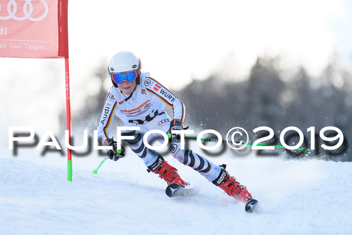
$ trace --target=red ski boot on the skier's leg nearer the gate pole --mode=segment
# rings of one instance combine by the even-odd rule
[[[167,185],[177,183],[181,187],[188,185],[179,175],[176,168],[170,166],[162,156],[158,156],[155,163],[148,167],[149,171],[158,174],[161,179],[164,179]]]

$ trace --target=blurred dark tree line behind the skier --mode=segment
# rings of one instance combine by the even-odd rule
[[[72,126],[83,126],[95,130],[98,125],[102,106],[107,94],[104,88],[110,80],[106,63],[95,68],[94,77],[100,81],[97,94],[87,97],[86,105],[72,115]],[[162,77],[155,77],[162,83]],[[110,81],[109,81],[110,82]],[[252,130],[259,126],[268,126],[275,132],[275,138],[262,143],[280,143],[280,131],[295,126],[304,134],[304,146],[310,148],[310,132],[315,127],[315,150],[301,151],[265,150],[268,154],[285,155],[288,158],[320,158],[334,161],[352,161],[350,139],[352,139],[352,76],[332,56],[330,63],[318,77],[311,77],[304,67],[284,70],[280,68],[280,58],[258,57],[247,79],[236,82],[220,74],[211,74],[205,80],[193,80],[181,90],[171,91],[186,105],[185,125],[197,130],[214,129],[225,139],[226,133],[233,127],[242,127],[249,134],[249,142],[268,135]],[[166,108],[167,109],[167,108]],[[60,117],[65,120],[64,111]],[[115,118],[114,125],[123,124]],[[319,137],[319,131],[325,126],[339,128],[344,141],[336,150],[325,150],[320,145],[334,145]],[[65,129],[65,125],[61,129]],[[89,133],[93,133],[89,132]],[[288,132],[289,133],[289,132]],[[290,132],[291,133],[291,132]],[[335,136],[336,132],[327,131],[326,136]],[[195,134],[196,136],[196,134]],[[289,145],[298,142],[298,136],[286,134]],[[249,148],[248,146],[246,148]]]

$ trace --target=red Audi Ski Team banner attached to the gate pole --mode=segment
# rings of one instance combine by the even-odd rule
[[[0,57],[68,57],[68,0],[0,0]]]

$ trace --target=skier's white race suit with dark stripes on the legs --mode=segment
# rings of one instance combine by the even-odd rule
[[[184,121],[185,105],[172,92],[152,79],[149,72],[141,73],[140,85],[136,86],[132,95],[123,94],[119,88],[111,87],[105,99],[98,125],[99,142],[104,143],[105,139],[110,138],[110,128],[116,115],[125,123],[124,127],[140,127],[140,130],[122,130],[121,135],[134,136],[134,139],[125,141],[132,151],[144,161],[145,166],[151,166],[159,153],[144,145],[143,136],[149,130],[159,129],[165,133],[168,131],[171,118],[165,113],[164,104],[172,108],[173,119]],[[160,134],[149,135],[148,143],[152,138],[160,139],[160,136]],[[162,138],[161,143],[163,141]],[[181,142],[172,142],[168,146],[173,158],[198,171],[209,181],[213,181],[219,176],[221,171],[219,166],[208,161],[204,156],[187,149],[187,147],[181,149]]]

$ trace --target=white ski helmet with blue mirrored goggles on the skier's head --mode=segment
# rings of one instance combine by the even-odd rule
[[[136,84],[140,84],[141,73],[140,59],[129,51],[121,51],[113,56],[110,60],[108,71],[114,87],[124,81],[129,83],[136,80]]]

